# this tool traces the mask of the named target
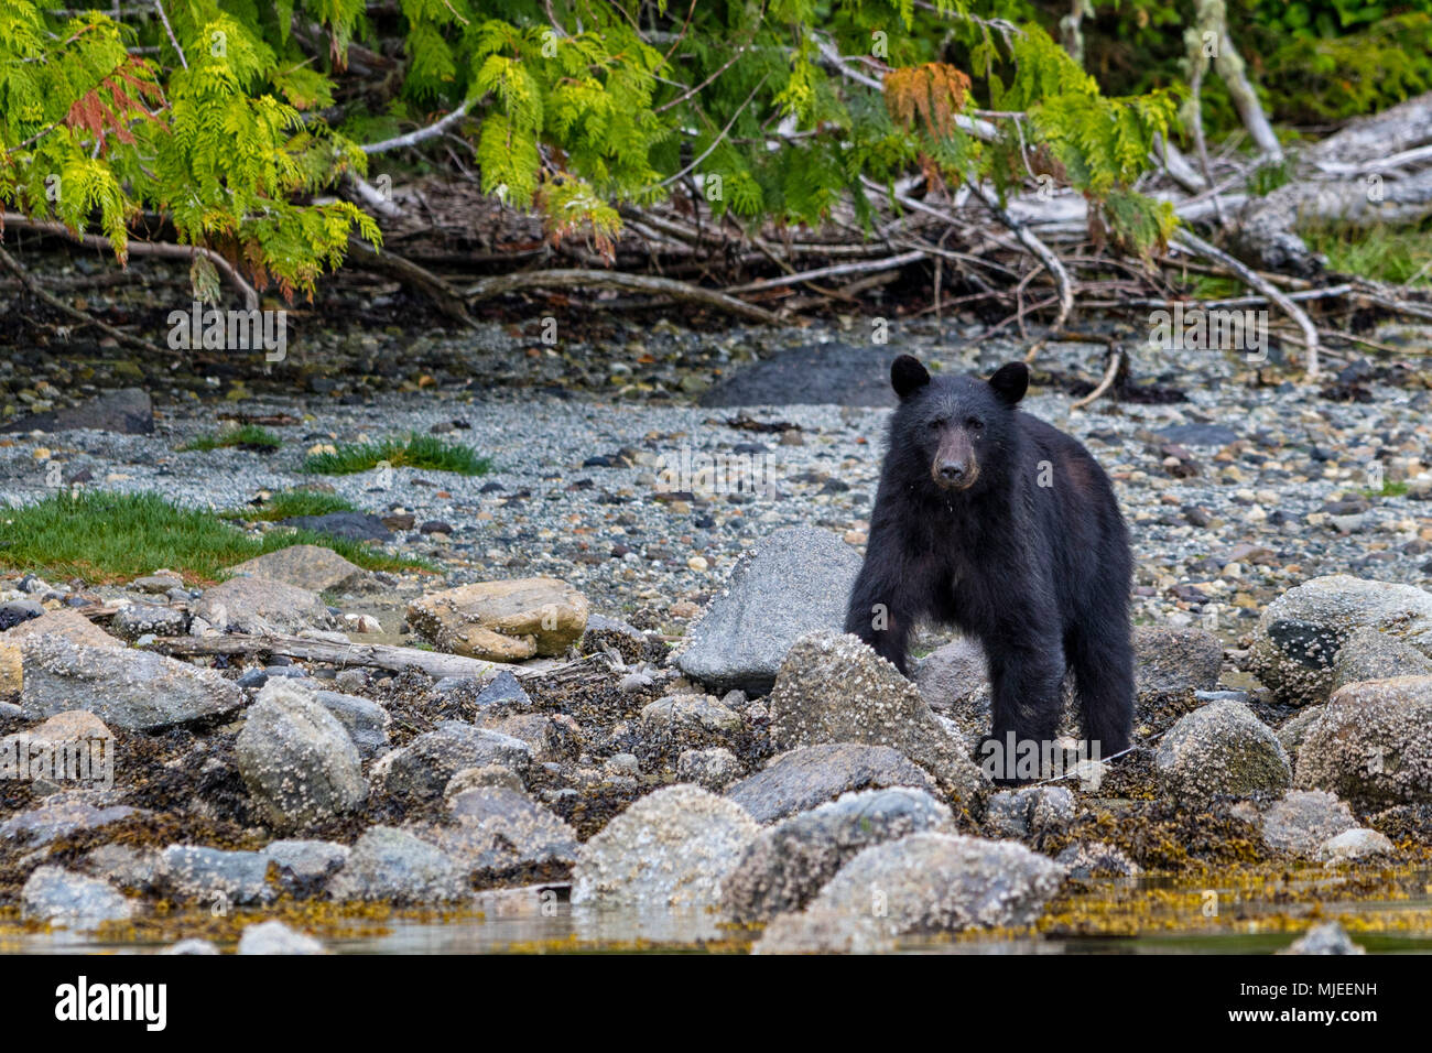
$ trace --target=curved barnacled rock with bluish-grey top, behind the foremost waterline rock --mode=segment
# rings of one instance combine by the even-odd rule
[[[922,789],[842,794],[760,831],[725,883],[723,908],[740,923],[800,910],[862,850],[929,831],[954,832],[954,817]]]

